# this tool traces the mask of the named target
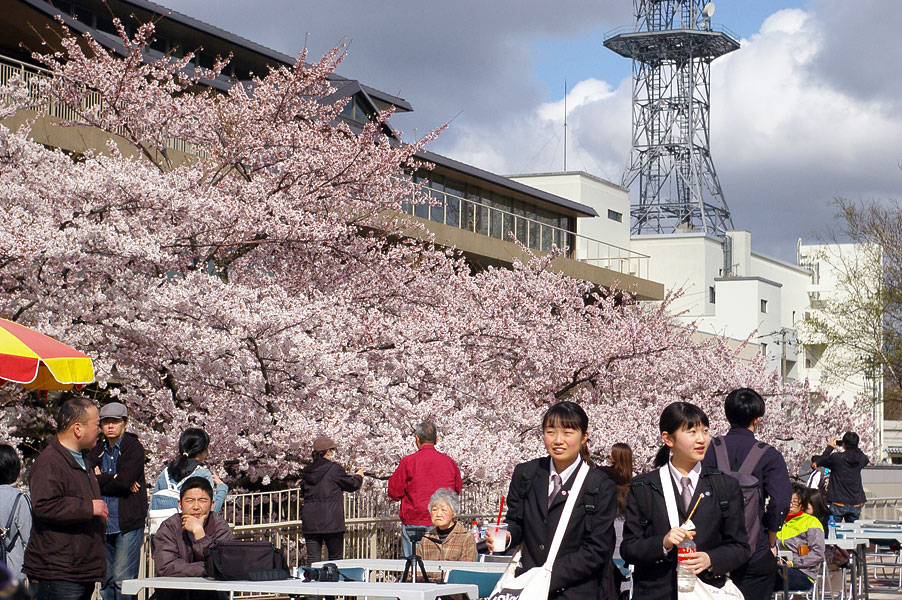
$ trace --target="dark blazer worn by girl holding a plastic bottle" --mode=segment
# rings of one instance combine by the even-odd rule
[[[720,505],[711,476],[720,473],[711,467],[702,467],[695,495],[690,506],[702,496],[692,522],[695,524],[693,540],[699,552],[707,552],[711,567],[700,575],[706,583],[723,585],[723,576],[749,559],[750,549],[745,532],[742,512],[742,493],[732,477],[720,474],[728,502],[726,519]],[[680,521],[686,519],[682,503],[677,498]],[[676,600],[676,548],[664,553],[664,536],[670,531],[670,519],[657,469],[633,478],[626,501],[623,541],[620,555],[632,565],[633,597],[642,600]]]

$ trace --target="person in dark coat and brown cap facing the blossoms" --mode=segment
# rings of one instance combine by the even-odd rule
[[[326,436],[313,441],[313,462],[304,468],[301,493],[304,508],[301,513],[301,533],[307,546],[307,564],[322,560],[323,545],[329,560],[344,556],[345,513],[342,492],[356,492],[363,485],[363,470],[348,475],[338,463],[332,462],[335,442]]]

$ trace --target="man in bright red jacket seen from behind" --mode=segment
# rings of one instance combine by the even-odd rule
[[[460,493],[460,469],[447,454],[435,449],[435,425],[424,421],[414,429],[417,451],[401,459],[388,480],[388,496],[401,501],[401,549],[413,554],[411,538],[421,539],[432,526],[429,499],[440,488]]]

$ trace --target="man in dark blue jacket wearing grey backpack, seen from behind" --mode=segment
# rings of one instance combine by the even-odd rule
[[[730,431],[723,437],[730,461],[730,470],[739,471],[742,462],[756,445],[755,431],[764,417],[764,399],[750,388],[739,388],[727,395],[724,412],[730,422]],[[716,440],[708,447],[703,464],[717,467],[715,456]],[[775,545],[777,532],[783,525],[792,500],[792,482],[786,469],[783,455],[775,448],[767,446],[751,475],[761,486],[761,502],[758,507],[760,527],[756,540],[749,539],[754,546],[749,561],[731,572],[733,582],[742,591],[745,600],[766,600],[773,595],[777,559]],[[770,502],[765,503],[767,498]]]

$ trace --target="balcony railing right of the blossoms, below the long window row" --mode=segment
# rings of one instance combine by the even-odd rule
[[[508,241],[508,234],[523,245],[540,252],[553,246],[568,248],[566,256],[617,273],[648,278],[649,257],[645,254],[602,242],[576,232],[517,215],[471,198],[463,198],[431,188],[428,204],[406,204],[404,211],[424,220]]]

